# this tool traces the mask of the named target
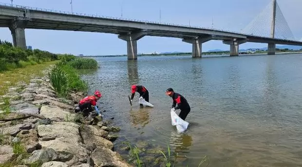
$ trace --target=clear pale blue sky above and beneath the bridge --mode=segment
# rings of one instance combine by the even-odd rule
[[[73,12],[103,16],[213,27],[240,32],[271,0],[72,0]],[[11,3],[11,0],[0,0]],[[71,0],[13,0],[13,4],[71,12]],[[277,0],[296,39],[302,38],[302,0]],[[116,34],[25,29],[26,45],[54,53],[84,55],[127,54],[127,44]],[[0,39],[12,42],[8,28],[0,28]],[[267,44],[245,43],[240,49],[263,48]],[[202,50],[229,50],[222,41],[211,40]],[[180,38],[144,36],[137,41],[138,53],[191,52]]]

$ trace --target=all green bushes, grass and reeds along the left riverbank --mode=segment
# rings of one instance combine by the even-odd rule
[[[44,50],[29,50],[13,47],[0,41],[0,95],[19,82],[28,83],[34,76],[43,76],[41,71],[53,66],[49,77],[53,88],[60,96],[68,91],[86,91],[88,85],[81,80],[77,69],[95,69],[97,62],[90,58],[78,58],[71,54],[54,54]]]

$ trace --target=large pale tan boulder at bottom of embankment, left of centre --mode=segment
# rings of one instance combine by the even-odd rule
[[[57,153],[72,156],[71,160],[63,161],[67,165],[77,162],[86,163],[88,150],[82,143],[79,125],[72,122],[54,122],[53,125],[38,125],[38,135],[42,149],[50,148]]]

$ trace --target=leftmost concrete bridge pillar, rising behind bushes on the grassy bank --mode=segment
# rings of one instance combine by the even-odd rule
[[[27,21],[13,20],[9,29],[12,33],[14,47],[26,49],[25,27]]]

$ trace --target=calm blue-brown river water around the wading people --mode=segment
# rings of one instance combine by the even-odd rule
[[[175,167],[302,166],[302,54],[192,59],[190,56],[98,57],[84,75],[99,89],[105,119],[121,127],[115,150],[127,140],[178,152]],[[154,108],[130,106],[132,84],[144,85]],[[172,87],[191,106],[187,132],[171,126]],[[178,113],[179,111],[176,110]]]

